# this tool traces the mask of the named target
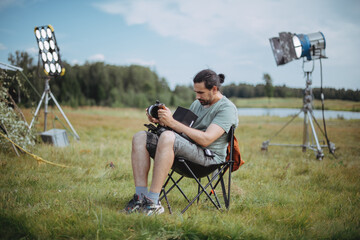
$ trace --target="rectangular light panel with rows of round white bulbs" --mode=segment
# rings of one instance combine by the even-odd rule
[[[65,68],[61,66],[60,49],[57,45],[54,28],[51,25],[34,29],[39,55],[44,72],[48,76],[63,76]]]

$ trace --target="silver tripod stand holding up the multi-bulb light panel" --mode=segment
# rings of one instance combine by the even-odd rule
[[[35,111],[35,114],[34,114],[34,117],[33,119],[31,120],[31,123],[29,125],[29,129],[31,129],[34,121],[35,121],[35,118],[36,116],[38,115],[39,113],[39,110],[40,110],[40,107],[41,107],[41,104],[42,102],[44,101],[44,132],[46,131],[46,127],[47,127],[47,114],[48,114],[48,103],[49,103],[49,100],[52,99],[56,105],[56,107],[59,109],[59,111],[61,112],[62,116],[65,118],[67,124],[70,126],[71,130],[73,131],[75,137],[77,140],[80,140],[80,137],[79,135],[76,133],[75,129],[73,128],[73,126],[71,125],[70,121],[68,120],[68,118],[66,117],[64,111],[62,110],[62,108],[60,107],[60,104],[56,101],[56,98],[55,96],[52,94],[51,90],[50,90],[50,85],[49,85],[49,81],[50,79],[47,78],[45,80],[45,89],[44,89],[44,92],[41,96],[41,99],[40,99],[40,102],[36,108],[36,111]]]

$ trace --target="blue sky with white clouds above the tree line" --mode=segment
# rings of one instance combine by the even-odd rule
[[[71,65],[105,62],[148,66],[173,89],[202,69],[225,83],[320,87],[320,61],[276,66],[269,39],[280,32],[322,32],[323,86],[360,89],[358,0],[0,0],[0,62],[27,51],[38,60],[37,26],[52,25]]]

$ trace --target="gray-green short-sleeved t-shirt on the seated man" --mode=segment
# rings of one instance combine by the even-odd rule
[[[228,145],[228,133],[232,125],[237,127],[238,111],[236,106],[225,96],[210,107],[204,107],[198,100],[194,101],[190,110],[198,116],[198,119],[192,126],[195,129],[206,131],[210,124],[216,124],[225,133],[207,146],[215,154],[215,161],[221,163],[226,157],[226,147]]]

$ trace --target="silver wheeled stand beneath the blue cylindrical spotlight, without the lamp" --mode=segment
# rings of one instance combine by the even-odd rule
[[[329,147],[330,152],[335,152],[335,144],[330,142],[328,145],[320,145],[319,138],[317,137],[314,122],[316,123],[317,127],[320,131],[324,134],[323,130],[321,129],[319,123],[316,121],[316,118],[313,113],[313,96],[312,96],[312,75],[313,69],[311,71],[304,71],[306,75],[306,88],[304,90],[304,98],[303,98],[303,107],[301,108],[300,112],[296,114],[294,117],[290,119],[278,132],[276,132],[271,138],[264,141],[261,146],[261,150],[267,151],[269,146],[287,146],[287,147],[302,147],[303,152],[306,152],[306,149],[313,150],[316,152],[316,158],[318,160],[322,160],[324,157],[324,153],[322,148]],[[304,113],[304,126],[303,126],[303,144],[296,145],[296,144],[279,144],[279,143],[270,143],[271,139],[276,137],[282,130],[284,130],[296,117],[300,115],[300,113]],[[309,134],[309,124],[310,130],[312,133],[312,138],[310,138]],[[312,140],[312,141],[310,141]]]

